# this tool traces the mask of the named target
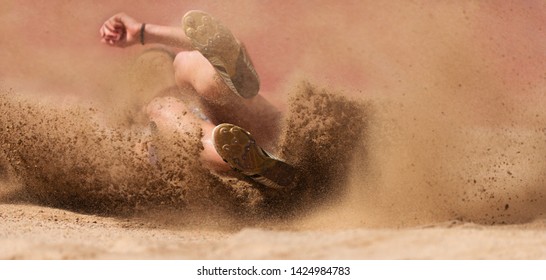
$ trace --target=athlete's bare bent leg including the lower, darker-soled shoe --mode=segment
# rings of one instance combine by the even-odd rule
[[[277,142],[281,118],[277,108],[259,94],[247,99],[237,96],[199,52],[179,53],[174,68],[178,86],[193,88],[210,121],[218,125],[213,136],[206,135],[204,140],[214,139],[214,144],[207,143],[209,152],[204,152],[209,162],[220,157],[262,185],[279,190],[294,187],[296,169],[262,150],[271,151]],[[206,133],[210,133],[212,123],[203,125]]]

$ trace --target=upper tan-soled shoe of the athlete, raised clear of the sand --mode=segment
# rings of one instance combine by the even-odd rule
[[[251,98],[260,80],[244,47],[220,21],[203,11],[189,11],[182,18],[186,36],[194,49],[209,60],[235,94]]]

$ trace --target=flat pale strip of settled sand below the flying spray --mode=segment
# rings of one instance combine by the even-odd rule
[[[2,259],[544,259],[544,222],[218,230],[2,205]]]

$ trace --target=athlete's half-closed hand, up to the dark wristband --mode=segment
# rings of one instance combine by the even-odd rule
[[[121,48],[137,44],[140,42],[141,25],[124,13],[116,14],[101,26],[101,42]]]

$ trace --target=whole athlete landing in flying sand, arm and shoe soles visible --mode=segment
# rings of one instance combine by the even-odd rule
[[[260,80],[244,45],[220,21],[194,10],[184,15],[182,27],[171,27],[119,13],[101,26],[100,35],[112,47],[163,44],[178,50],[176,84],[186,89],[183,94],[197,97],[204,113],[199,121],[204,164],[216,171],[231,168],[269,188],[294,187],[297,170],[262,148],[275,146],[281,111],[260,95]],[[146,111],[154,128],[166,131],[190,125],[176,121],[188,106],[182,99],[158,97]]]

